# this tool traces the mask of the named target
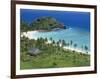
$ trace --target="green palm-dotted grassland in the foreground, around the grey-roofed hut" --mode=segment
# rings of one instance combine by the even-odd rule
[[[90,55],[83,54],[76,51],[65,50],[64,46],[77,44],[66,43],[64,40],[55,42],[52,38],[49,40],[52,43],[47,43],[48,39],[38,38],[37,40],[21,37],[21,69],[34,68],[59,68],[59,67],[80,67],[90,65]],[[60,46],[62,44],[62,46]],[[38,48],[41,53],[37,55],[30,55],[28,50],[30,48]],[[87,50],[87,47],[85,47]]]

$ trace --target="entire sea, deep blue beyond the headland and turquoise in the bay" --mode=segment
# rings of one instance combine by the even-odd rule
[[[34,10],[21,9],[21,21],[31,23],[37,18],[44,16],[54,17],[57,21],[63,23],[69,29],[51,31],[51,32],[37,32],[33,33],[33,39],[43,37],[53,40],[65,40],[66,42],[73,41],[77,44],[78,49],[82,46],[88,46],[90,51],[90,13],[89,12],[73,12],[73,11],[49,11],[49,10]]]

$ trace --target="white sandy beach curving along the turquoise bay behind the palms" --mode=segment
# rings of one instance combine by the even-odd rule
[[[28,31],[28,32],[23,32],[22,34],[21,34],[21,37],[23,37],[23,36],[25,36],[25,37],[27,37],[27,38],[29,38],[29,39],[33,39],[33,34],[35,34],[35,33],[38,33],[39,31]],[[35,40],[37,40],[37,38],[34,38]],[[51,43],[51,41],[49,40],[48,41],[48,43]],[[77,48],[72,48],[72,47],[63,47],[65,50],[72,50],[72,51],[76,51],[76,52],[79,52],[79,53],[84,53],[84,54],[90,54],[90,52],[88,52],[88,53],[86,53],[86,51],[83,51],[83,50],[81,50],[81,49],[77,49]]]

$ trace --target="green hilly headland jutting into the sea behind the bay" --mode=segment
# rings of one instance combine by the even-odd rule
[[[37,18],[30,24],[21,21],[21,32],[26,32],[29,30],[51,31],[54,28],[65,29],[62,23],[58,22],[55,18],[50,16]]]

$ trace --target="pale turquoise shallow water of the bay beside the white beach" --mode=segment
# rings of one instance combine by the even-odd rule
[[[50,40],[65,40],[66,43],[73,41],[73,44],[77,44],[78,49],[82,49],[82,46],[88,46],[88,51],[90,51],[90,32],[78,28],[69,28],[58,31],[51,32],[36,32],[33,33],[33,39],[37,38],[47,38]],[[74,47],[73,45],[71,47]]]

